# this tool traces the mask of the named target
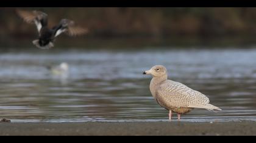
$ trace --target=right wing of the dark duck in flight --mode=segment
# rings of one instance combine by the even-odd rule
[[[59,36],[61,33],[66,33],[69,36],[79,36],[88,33],[87,28],[78,27],[74,24],[74,21],[69,19],[62,19],[60,24],[53,29],[55,30],[54,37]]]

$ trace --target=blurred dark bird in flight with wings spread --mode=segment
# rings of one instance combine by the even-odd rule
[[[48,28],[48,15],[46,13],[34,10],[32,12],[16,10],[18,15],[29,24],[35,24],[39,33],[39,38],[33,41],[38,48],[49,49],[54,47],[54,41],[57,36],[66,33],[69,36],[79,36],[88,33],[86,28],[78,27],[74,21],[62,19],[58,25]]]

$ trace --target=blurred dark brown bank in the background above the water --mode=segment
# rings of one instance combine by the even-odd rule
[[[1,45],[35,38],[34,25],[24,23],[16,8],[0,8]],[[49,15],[49,26],[68,18],[88,27],[79,39],[149,38],[154,41],[192,39],[205,42],[222,38],[256,42],[256,8],[20,8],[41,10]],[[64,36],[65,37],[65,36]],[[240,40],[243,39],[243,40]],[[90,41],[90,40],[89,40]],[[232,40],[230,40],[232,41]],[[149,42],[149,41],[144,41]],[[243,43],[242,42],[242,43]],[[166,42],[164,42],[166,43]],[[214,42],[213,42],[214,43]]]

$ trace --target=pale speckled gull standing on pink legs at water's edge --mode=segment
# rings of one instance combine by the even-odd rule
[[[193,90],[179,82],[168,80],[168,73],[163,65],[155,65],[144,75],[152,75],[150,91],[157,103],[169,111],[171,121],[172,111],[180,115],[188,113],[194,108],[204,108],[207,110],[221,110],[212,104],[207,96],[199,91]]]

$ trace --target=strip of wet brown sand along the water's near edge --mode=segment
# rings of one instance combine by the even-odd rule
[[[0,135],[256,135],[256,122],[0,123]]]

